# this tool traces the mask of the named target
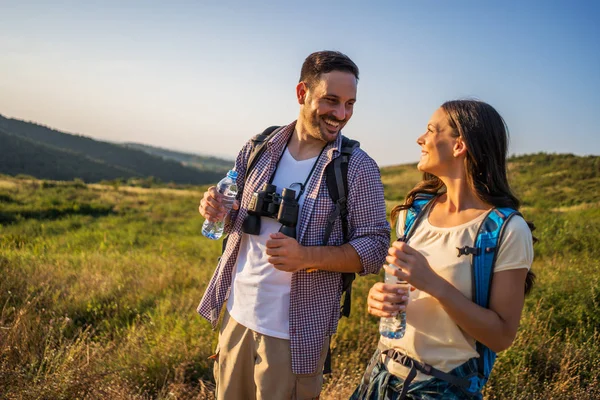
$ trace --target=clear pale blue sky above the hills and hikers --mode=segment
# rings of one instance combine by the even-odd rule
[[[492,104],[511,154],[600,154],[599,1],[4,1],[0,114],[233,158],[298,115],[311,52],[359,66],[344,133],[418,160],[445,100]]]

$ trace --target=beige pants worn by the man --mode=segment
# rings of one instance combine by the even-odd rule
[[[227,310],[214,365],[217,400],[318,399],[329,338],[314,374],[292,372],[290,341],[265,336],[237,323]]]

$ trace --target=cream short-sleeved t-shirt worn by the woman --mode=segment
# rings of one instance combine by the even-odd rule
[[[457,247],[473,246],[477,229],[487,213],[459,226],[440,228],[423,218],[408,244],[425,256],[433,270],[450,282],[467,298],[472,298],[471,256],[457,257]],[[404,227],[404,215],[398,220]],[[533,243],[531,231],[520,216],[511,218],[504,231],[494,273],[531,267]],[[449,372],[467,360],[477,357],[475,339],[464,332],[428,293],[415,290],[409,295],[406,308],[406,333],[401,339],[381,337],[387,347],[401,350],[410,357]],[[408,368],[387,362],[388,370],[406,378]],[[416,380],[430,379],[417,374]]]

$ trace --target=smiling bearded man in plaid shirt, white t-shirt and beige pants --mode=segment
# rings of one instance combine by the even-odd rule
[[[383,185],[376,163],[360,148],[348,163],[348,241],[338,217],[323,246],[334,208],[325,167],[340,156],[357,83],[358,67],[344,54],[309,55],[296,86],[298,120],[275,132],[251,171],[251,141],[237,157],[239,193],[226,222],[227,246],[198,306],[216,327],[226,302],[214,368],[218,399],[318,398],[340,317],[342,273],[377,273],[385,261],[390,228]],[[265,183],[296,191],[296,239],[267,217],[260,233],[243,232],[252,195]],[[221,199],[209,188],[200,213],[222,220]]]

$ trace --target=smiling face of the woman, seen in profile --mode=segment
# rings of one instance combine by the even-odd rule
[[[453,135],[455,132],[448,123],[446,111],[438,108],[427,124],[427,131],[417,139],[417,144],[421,146],[421,159],[417,165],[419,171],[438,177],[448,175],[457,161],[454,146],[460,140]]]

